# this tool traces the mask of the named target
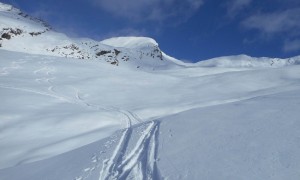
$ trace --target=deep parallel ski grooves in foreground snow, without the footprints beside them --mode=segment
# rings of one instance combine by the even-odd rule
[[[112,157],[103,162],[99,180],[162,179],[157,167],[159,126],[159,121],[150,122],[132,150],[128,147],[132,128],[124,130]]]

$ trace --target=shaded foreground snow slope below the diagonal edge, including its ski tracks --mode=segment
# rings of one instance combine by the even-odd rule
[[[298,92],[196,108],[0,174],[3,179],[296,180]]]

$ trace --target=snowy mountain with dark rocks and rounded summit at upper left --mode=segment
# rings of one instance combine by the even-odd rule
[[[53,31],[42,20],[3,3],[0,3],[0,36],[0,48],[5,50],[94,59],[116,66],[150,70],[177,66],[168,56],[163,55],[153,39],[123,37],[114,41],[97,42],[91,39],[70,38]]]

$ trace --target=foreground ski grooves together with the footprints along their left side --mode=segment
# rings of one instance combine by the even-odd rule
[[[133,142],[133,128],[124,129],[117,140],[118,136],[107,141],[104,147],[110,148],[113,143],[117,143],[112,155],[109,159],[103,160],[103,155],[106,153],[105,148],[98,154],[91,157],[91,165],[82,169],[81,175],[74,180],[87,180],[100,167],[99,180],[125,180],[125,179],[163,179],[157,167],[158,160],[158,141],[159,141],[159,121],[151,121],[144,124],[145,130],[140,138]],[[108,150],[110,151],[110,150]]]

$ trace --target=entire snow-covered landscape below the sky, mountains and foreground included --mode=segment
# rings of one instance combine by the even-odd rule
[[[0,179],[300,178],[300,57],[188,64],[0,3]]]

